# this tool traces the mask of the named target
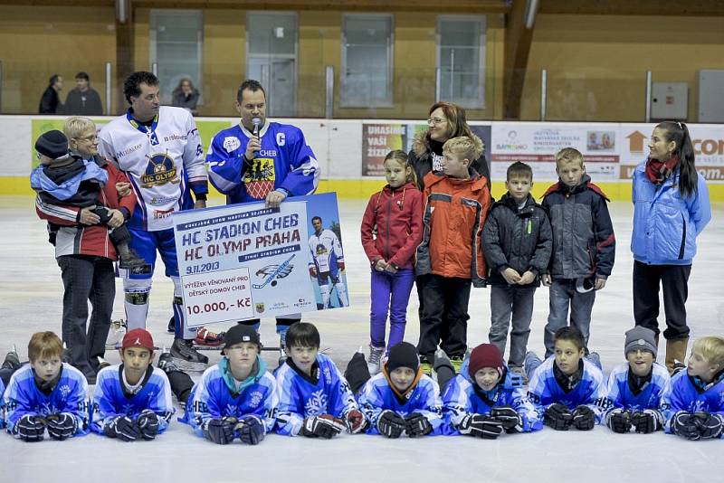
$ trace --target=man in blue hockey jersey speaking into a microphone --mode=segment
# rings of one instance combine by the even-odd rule
[[[319,163],[300,128],[267,122],[266,91],[257,80],[244,80],[236,92],[241,121],[219,131],[206,153],[209,180],[227,204],[264,201],[278,207],[290,196],[313,194],[319,183]],[[277,318],[280,345],[299,314]],[[243,324],[259,328],[254,318]]]

